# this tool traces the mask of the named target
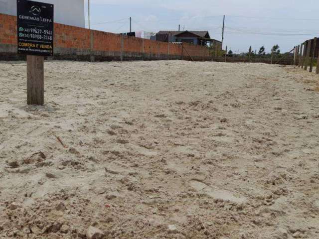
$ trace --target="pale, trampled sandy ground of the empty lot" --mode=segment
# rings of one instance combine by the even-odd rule
[[[0,238],[319,238],[319,76],[214,62],[0,62]],[[61,140],[61,142],[59,140]]]

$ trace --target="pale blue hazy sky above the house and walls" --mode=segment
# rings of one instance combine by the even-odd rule
[[[86,24],[87,24],[87,1]],[[288,52],[319,37],[319,0],[90,0],[91,28],[107,32],[208,30],[223,48],[247,52],[249,46],[270,52],[278,44]]]

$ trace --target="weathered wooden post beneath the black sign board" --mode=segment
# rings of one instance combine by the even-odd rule
[[[28,105],[44,104],[44,56],[26,56],[26,92]]]

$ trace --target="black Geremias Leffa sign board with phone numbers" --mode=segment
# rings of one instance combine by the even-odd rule
[[[18,54],[53,56],[53,4],[17,0]]]

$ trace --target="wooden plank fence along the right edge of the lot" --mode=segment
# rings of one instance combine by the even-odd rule
[[[315,37],[294,47],[294,65],[301,67],[305,71],[313,72],[314,66],[316,73],[319,74],[319,39]]]

